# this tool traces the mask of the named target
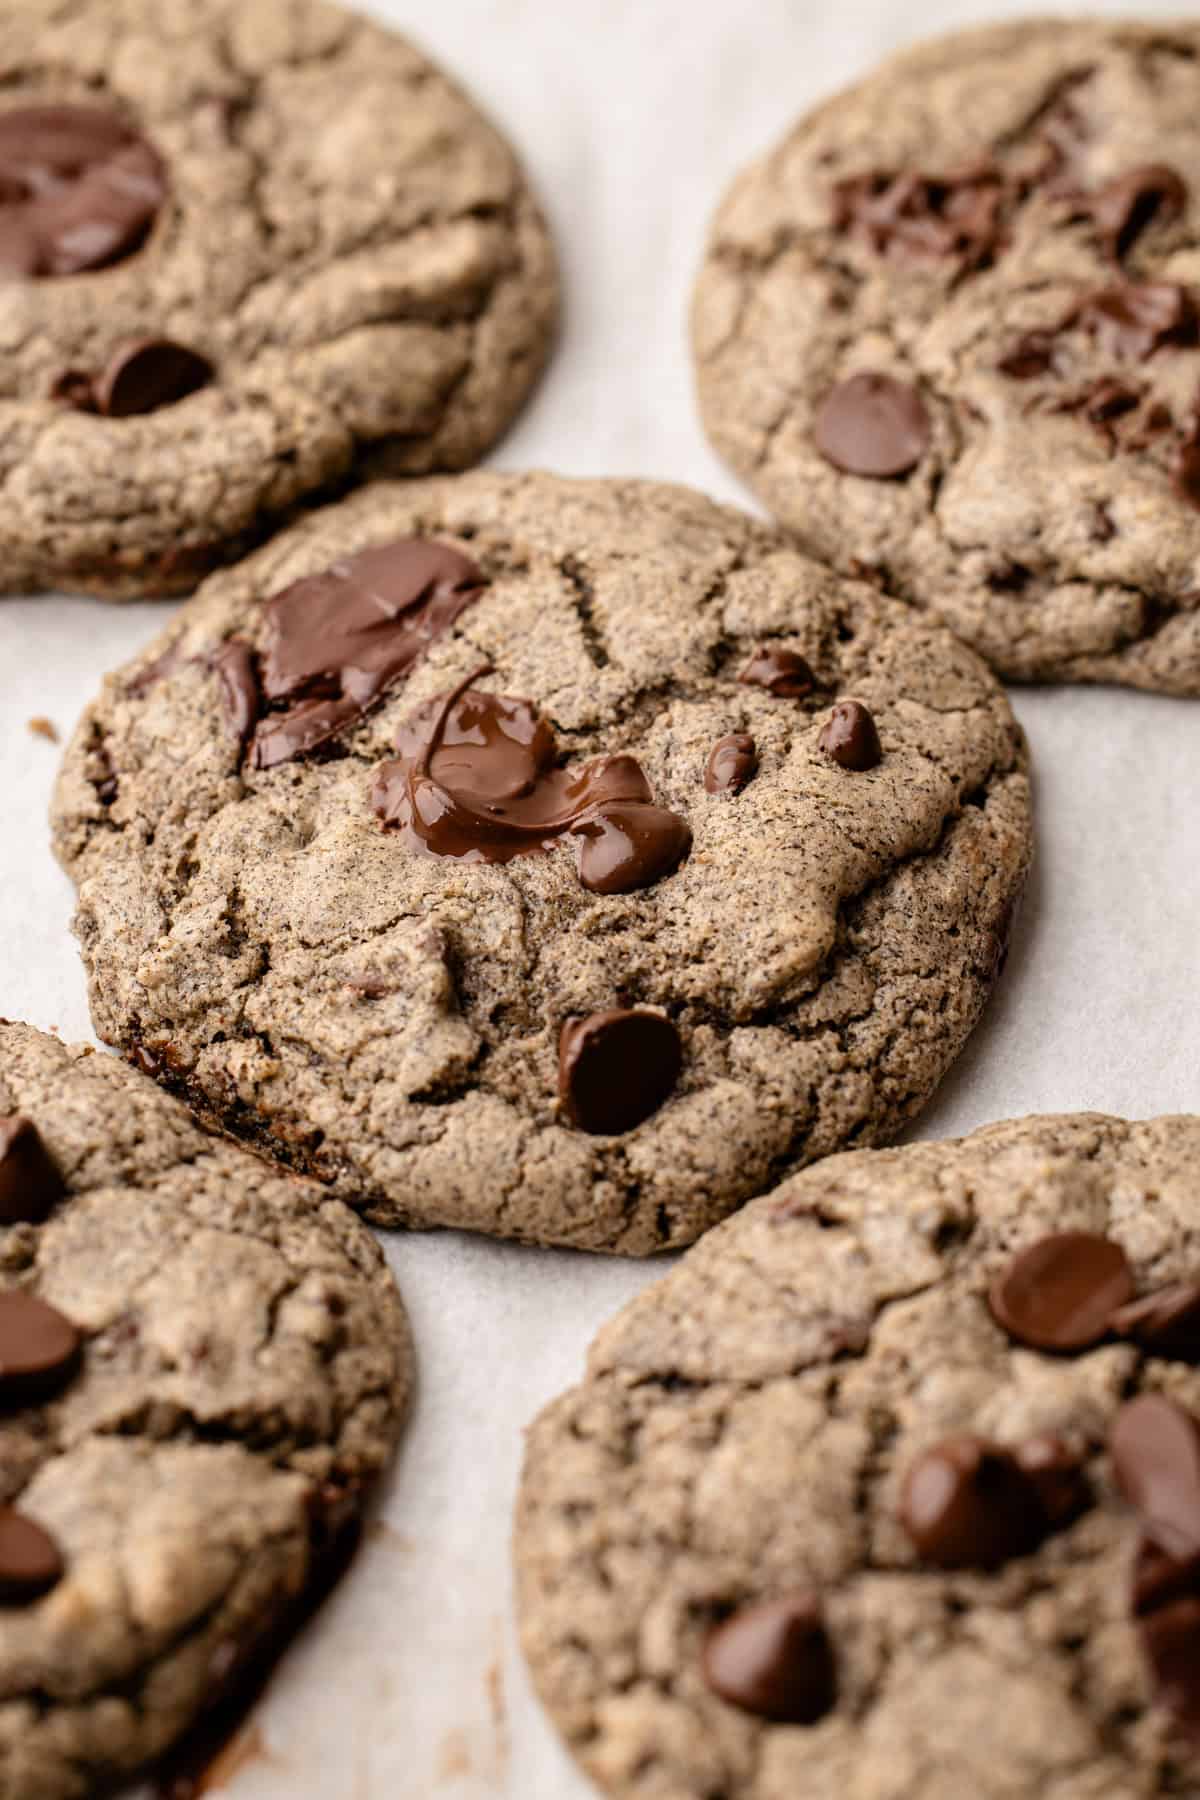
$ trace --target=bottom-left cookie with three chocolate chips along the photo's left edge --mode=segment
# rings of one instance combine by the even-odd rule
[[[0,1022],[0,1800],[108,1791],[236,1685],[408,1384],[353,1213]]]

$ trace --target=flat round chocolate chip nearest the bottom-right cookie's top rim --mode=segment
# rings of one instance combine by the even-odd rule
[[[1087,1350],[1133,1298],[1119,1244],[1092,1231],[1058,1231],[1022,1249],[991,1283],[997,1325],[1034,1350]]]

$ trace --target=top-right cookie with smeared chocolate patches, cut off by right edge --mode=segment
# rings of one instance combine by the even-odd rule
[[[1015,679],[1200,693],[1200,25],[910,50],[732,187],[709,432]]]

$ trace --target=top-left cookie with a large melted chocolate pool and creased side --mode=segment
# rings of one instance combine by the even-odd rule
[[[0,0],[0,589],[189,589],[367,461],[504,430],[554,257],[412,45],[322,0]]]

